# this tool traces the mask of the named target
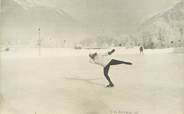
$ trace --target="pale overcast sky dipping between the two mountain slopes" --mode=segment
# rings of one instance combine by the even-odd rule
[[[178,0],[15,0],[24,7],[62,9],[89,29],[129,33],[144,19],[172,7]],[[25,3],[26,1],[26,3]]]

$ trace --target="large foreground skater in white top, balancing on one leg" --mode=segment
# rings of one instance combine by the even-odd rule
[[[89,54],[91,63],[98,64],[98,65],[103,67],[104,75],[109,82],[109,85],[107,85],[106,87],[113,87],[114,86],[114,84],[112,83],[112,81],[108,75],[109,68],[111,65],[119,65],[119,64],[132,65],[131,62],[125,62],[125,61],[111,59],[111,54],[114,52],[115,52],[115,49],[112,49],[111,51],[109,51],[107,53],[95,52],[95,53]]]

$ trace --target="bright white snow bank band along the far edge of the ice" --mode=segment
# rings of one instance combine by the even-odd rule
[[[112,48],[111,48],[112,49]],[[38,48],[10,48],[9,51],[1,52],[1,57],[60,57],[60,56],[88,56],[89,53],[107,52],[109,49],[72,49],[72,48],[42,48],[39,56]],[[115,55],[139,54],[139,48],[126,49],[115,47]],[[144,54],[159,53],[184,53],[184,48],[167,48],[167,49],[145,49]]]

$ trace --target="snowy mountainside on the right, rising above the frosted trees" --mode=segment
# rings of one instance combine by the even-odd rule
[[[139,28],[146,47],[184,44],[184,0],[146,20]]]

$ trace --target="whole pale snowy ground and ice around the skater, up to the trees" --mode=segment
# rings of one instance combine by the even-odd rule
[[[184,53],[118,49],[107,81],[88,53],[101,50],[10,49],[1,52],[1,114],[184,114]],[[105,50],[102,50],[105,51]],[[176,53],[175,53],[176,52]]]

